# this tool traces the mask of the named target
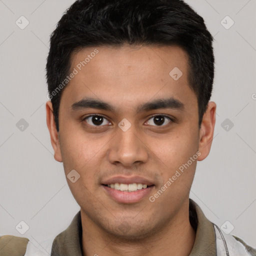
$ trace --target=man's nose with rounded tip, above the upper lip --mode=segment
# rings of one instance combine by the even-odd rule
[[[148,148],[134,125],[123,131],[116,127],[116,135],[109,143],[108,161],[112,164],[122,164],[125,167],[145,163],[148,159]]]

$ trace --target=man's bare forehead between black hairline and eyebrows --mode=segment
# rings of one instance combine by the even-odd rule
[[[76,74],[62,95],[69,105],[84,97],[136,108],[164,97],[196,102],[188,86],[188,56],[178,46],[86,47],[70,60]]]

